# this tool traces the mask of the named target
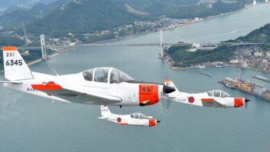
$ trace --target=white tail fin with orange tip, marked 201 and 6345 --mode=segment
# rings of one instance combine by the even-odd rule
[[[4,46],[2,50],[3,66],[6,79],[14,81],[34,78],[26,62],[19,54],[19,51],[16,47]]]

